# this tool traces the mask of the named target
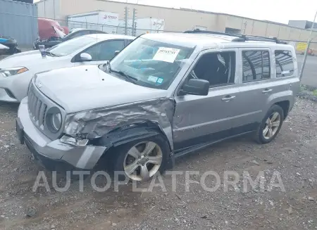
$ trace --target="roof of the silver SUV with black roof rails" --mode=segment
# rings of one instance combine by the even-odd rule
[[[277,46],[285,44],[276,44],[274,41],[232,41],[237,39],[235,36],[223,34],[187,34],[187,33],[159,33],[144,34],[142,37],[155,41],[162,41],[179,46],[187,46],[194,48],[195,46],[215,46],[215,44],[223,44],[228,46],[245,46],[245,44],[256,44],[256,46]],[[261,45],[263,44],[263,45]],[[216,47],[215,47],[216,48]]]

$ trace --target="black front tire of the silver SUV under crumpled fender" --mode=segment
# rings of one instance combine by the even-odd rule
[[[107,154],[107,157],[105,159],[108,172],[111,173],[112,176],[113,173],[116,171],[124,172],[123,162],[128,151],[130,150],[130,148],[132,148],[132,146],[135,146],[137,143],[141,143],[143,141],[152,141],[161,148],[162,162],[158,172],[162,174],[166,170],[166,165],[170,157],[170,147],[168,145],[168,141],[166,141],[166,139],[164,139],[161,134],[158,134],[157,136],[150,136],[144,139],[139,139],[136,141],[131,141],[129,143],[125,143],[121,146],[117,146],[116,148],[111,149],[110,153]],[[119,181],[124,181],[125,178],[128,177],[119,174]],[[151,177],[149,179],[151,179]]]

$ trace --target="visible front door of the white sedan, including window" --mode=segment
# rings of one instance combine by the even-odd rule
[[[99,44],[90,46],[84,51],[78,53],[75,56],[75,66],[78,65],[99,65],[106,63],[106,61],[111,60],[115,56],[115,51],[121,51],[125,47],[125,40],[107,40],[102,41]],[[88,53],[92,56],[92,60],[82,61],[80,59],[81,53]]]

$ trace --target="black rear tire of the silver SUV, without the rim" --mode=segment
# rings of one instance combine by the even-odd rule
[[[273,115],[273,113],[275,113],[275,112],[280,114],[280,126],[278,127],[278,130],[275,132],[275,134],[270,139],[266,139],[263,135],[263,129],[266,126],[266,120],[268,120],[268,117]],[[268,113],[266,113],[261,124],[259,125],[258,129],[256,130],[256,136],[255,136],[256,142],[261,143],[261,144],[266,144],[266,143],[270,143],[271,141],[273,141],[273,139],[275,139],[275,137],[280,132],[280,128],[282,127],[283,120],[284,120],[284,111],[282,110],[282,108],[278,105],[271,106],[271,108],[268,110]]]

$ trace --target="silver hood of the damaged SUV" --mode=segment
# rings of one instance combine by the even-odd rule
[[[66,113],[118,106],[167,96],[167,91],[132,84],[103,72],[96,65],[38,73],[35,84]]]

